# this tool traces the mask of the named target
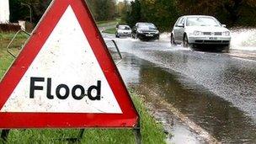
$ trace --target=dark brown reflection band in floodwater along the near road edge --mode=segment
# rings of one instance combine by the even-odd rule
[[[137,78],[133,81],[136,84],[134,87],[142,94],[149,94],[143,88],[150,88],[223,143],[256,142],[256,125],[243,111],[193,83],[188,77],[137,57],[129,57],[119,66],[120,72],[125,81]],[[127,75],[130,70],[137,72]],[[132,81],[129,83],[131,85]]]

